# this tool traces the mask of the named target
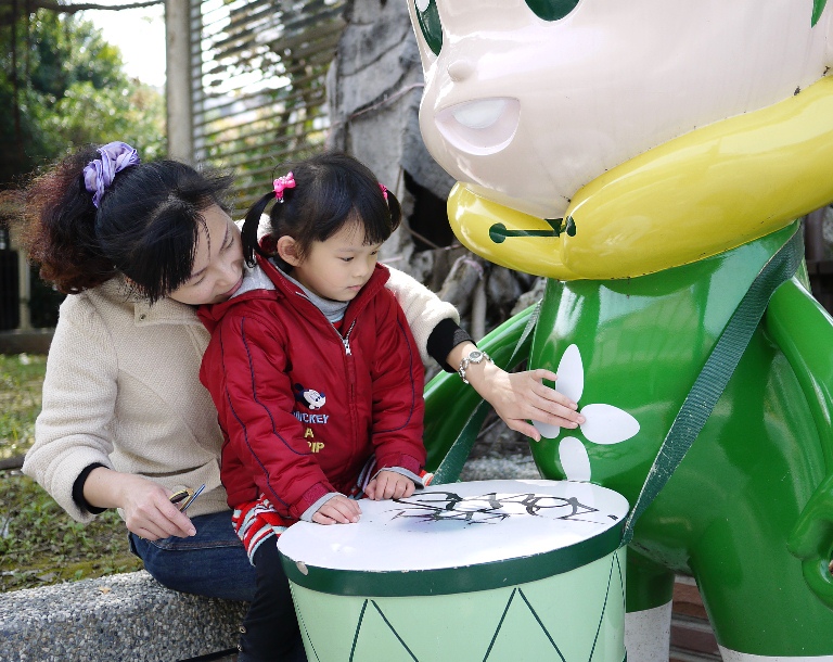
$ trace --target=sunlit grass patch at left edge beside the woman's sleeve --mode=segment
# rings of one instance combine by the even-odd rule
[[[35,441],[46,371],[46,356],[0,354],[0,459],[23,455]]]

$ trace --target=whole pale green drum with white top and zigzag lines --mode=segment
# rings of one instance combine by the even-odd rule
[[[361,508],[280,538],[309,660],[625,660],[619,494],[478,481]]]

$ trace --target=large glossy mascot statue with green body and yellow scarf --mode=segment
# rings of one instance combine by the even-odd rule
[[[833,201],[833,2],[408,2],[457,237],[549,279],[523,358],[587,423],[536,463],[631,505],[628,659],[668,659],[681,573],[725,661],[833,660],[833,320],[795,220]]]

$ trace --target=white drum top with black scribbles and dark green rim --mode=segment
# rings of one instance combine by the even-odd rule
[[[618,493],[571,481],[450,483],[360,506],[356,524],[298,522],[281,535],[290,580],[380,596],[520,584],[612,553],[628,513]]]

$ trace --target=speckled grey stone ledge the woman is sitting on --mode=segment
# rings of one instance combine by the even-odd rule
[[[0,595],[0,660],[187,660],[234,647],[245,608],[168,590],[143,570],[15,590]]]

